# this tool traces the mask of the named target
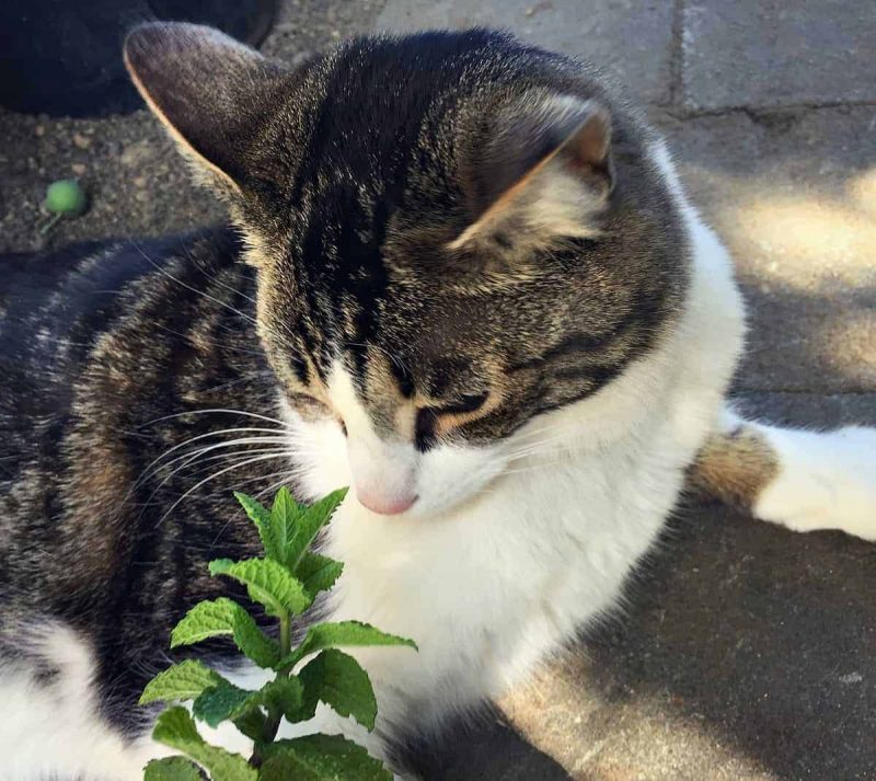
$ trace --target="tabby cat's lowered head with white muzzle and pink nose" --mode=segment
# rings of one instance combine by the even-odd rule
[[[676,320],[675,208],[575,62],[469,31],[291,68],[185,24],[138,27],[125,58],[244,232],[320,490],[350,480],[383,514],[470,501],[539,440],[587,438],[556,411],[611,394]]]

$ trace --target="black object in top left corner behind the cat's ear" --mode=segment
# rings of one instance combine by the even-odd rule
[[[257,46],[277,0],[0,0],[0,104],[51,116],[106,116],[142,101],[122,62],[138,22],[210,24]]]

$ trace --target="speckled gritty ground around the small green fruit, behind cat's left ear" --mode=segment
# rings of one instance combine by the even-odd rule
[[[262,49],[295,61],[373,24],[383,0],[284,0]],[[120,56],[120,53],[119,53]],[[77,143],[77,138],[84,139]],[[48,237],[38,227],[46,186],[78,176],[91,207]],[[106,119],[14,114],[0,107],[0,252],[82,239],[161,236],[216,222],[224,208],[196,187],[147,111]]]

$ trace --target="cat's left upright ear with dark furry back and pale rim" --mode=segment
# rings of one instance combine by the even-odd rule
[[[180,22],[135,27],[124,56],[143,100],[207,183],[240,191],[286,71],[218,30]]]

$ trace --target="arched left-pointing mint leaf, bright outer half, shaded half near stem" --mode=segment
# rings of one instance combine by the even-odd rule
[[[227,597],[198,602],[171,633],[171,647],[192,645],[208,638],[231,635],[238,647],[260,667],[274,667],[280,656],[279,644],[268,638],[252,616]]]

